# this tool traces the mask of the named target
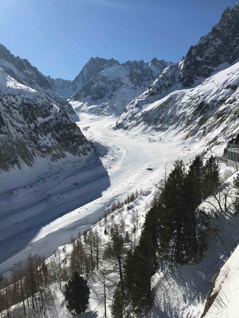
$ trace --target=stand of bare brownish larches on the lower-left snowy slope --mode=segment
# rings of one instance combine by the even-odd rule
[[[130,233],[125,231],[122,212],[125,208],[130,209],[129,204],[143,192],[142,188],[131,192],[125,200],[113,202],[111,208],[105,211],[103,220],[98,223],[107,241],[102,240],[102,233],[93,226],[88,231],[79,233],[78,238],[71,238],[69,252],[64,246],[61,252],[58,249],[47,261],[42,256],[32,255],[29,255],[24,265],[19,261],[12,270],[10,279],[4,277],[0,280],[0,315],[6,310],[7,317],[11,317],[11,306],[21,303],[23,316],[27,316],[27,308],[45,316],[50,285],[57,283],[63,290],[62,282],[69,284],[75,273],[84,274],[87,278],[90,273],[99,269],[104,260],[111,260],[112,272],[121,273],[122,280],[121,260],[127,251],[125,245],[134,250],[135,232],[139,226],[138,213],[133,211],[132,222],[135,225]],[[120,213],[119,223],[114,223],[115,211]]]

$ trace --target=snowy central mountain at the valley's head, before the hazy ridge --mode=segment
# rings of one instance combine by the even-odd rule
[[[156,76],[172,62],[127,61],[96,73],[69,99],[76,112],[120,115],[126,105],[153,82]]]

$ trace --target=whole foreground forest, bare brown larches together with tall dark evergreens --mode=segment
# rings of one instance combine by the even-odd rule
[[[105,318],[109,302],[113,318],[147,315],[153,304],[151,278],[160,264],[195,264],[201,260],[212,229],[211,215],[200,204],[207,202],[208,196],[218,200],[215,190],[222,183],[213,156],[205,164],[200,156],[187,165],[177,160],[171,172],[168,170],[165,165],[163,177],[155,184],[143,225],[142,215],[130,205],[143,194],[141,189],[122,202],[113,202],[98,226],[72,237],[68,247],[58,249],[47,261],[29,255],[24,266],[19,262],[11,279],[1,281],[0,313],[7,310],[9,318],[11,306],[21,303],[23,316],[29,307],[45,316],[51,284],[57,283],[61,290],[65,284],[73,288],[74,275],[83,275],[87,281],[97,273],[102,283],[97,301],[104,308]],[[239,178],[234,186],[239,194]],[[221,191],[226,197],[231,195],[229,186]],[[224,201],[223,207],[219,201],[219,210],[212,204],[216,218],[227,210]],[[130,225],[126,225],[123,211],[130,214]],[[107,294],[109,290],[111,294]]]

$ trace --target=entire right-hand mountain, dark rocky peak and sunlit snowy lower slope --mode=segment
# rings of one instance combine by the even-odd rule
[[[176,129],[184,138],[228,136],[237,130],[239,95],[239,3],[191,46],[185,59],[171,65],[132,100],[116,128],[139,124],[156,131]],[[209,138],[209,137],[208,137]]]

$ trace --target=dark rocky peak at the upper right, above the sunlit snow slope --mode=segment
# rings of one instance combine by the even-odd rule
[[[208,77],[217,66],[239,59],[239,4],[224,10],[220,21],[212,30],[192,45],[187,52],[180,79],[183,87],[190,87],[195,80]]]

